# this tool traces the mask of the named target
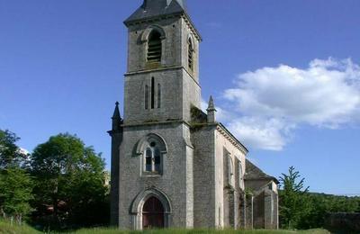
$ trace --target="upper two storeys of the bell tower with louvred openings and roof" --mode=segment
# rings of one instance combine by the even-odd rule
[[[128,27],[124,123],[190,121],[200,108],[199,42],[184,0],[145,0]]]

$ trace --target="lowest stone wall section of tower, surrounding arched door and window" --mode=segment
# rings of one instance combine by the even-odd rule
[[[156,188],[168,197],[172,208],[170,227],[193,227],[193,181],[189,180],[193,177],[193,150],[187,139],[189,134],[185,134],[188,131],[188,127],[180,123],[124,127],[119,163],[119,223],[122,229],[139,228],[134,219],[141,219],[141,214],[135,217],[136,214],[130,214],[130,209],[139,193],[148,188]],[[166,141],[162,175],[142,174],[143,157],[135,153],[135,148],[148,133],[155,133]]]

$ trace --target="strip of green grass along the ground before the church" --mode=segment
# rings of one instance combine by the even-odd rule
[[[40,232],[36,229],[31,228],[28,225],[11,225],[9,222],[0,220],[0,234],[40,234]],[[56,232],[50,232],[56,233]],[[146,231],[128,231],[128,230],[119,230],[119,229],[79,229],[73,232],[67,233],[75,233],[75,234],[137,234],[137,233],[145,233],[145,234],[206,234],[206,233],[214,233],[214,234],[292,234],[292,233],[302,233],[302,234],[329,234],[329,231],[323,229],[313,229],[313,230],[302,230],[302,231],[293,231],[293,230],[210,230],[210,229],[162,229],[162,230],[146,230]]]

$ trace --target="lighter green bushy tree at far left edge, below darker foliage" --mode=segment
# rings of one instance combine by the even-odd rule
[[[31,211],[31,177],[21,168],[4,169],[0,174],[0,204],[4,217],[22,224],[23,217]]]

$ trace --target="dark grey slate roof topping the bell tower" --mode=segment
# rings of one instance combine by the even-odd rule
[[[186,0],[144,0],[144,3],[124,22],[153,18],[158,15],[186,13]]]

